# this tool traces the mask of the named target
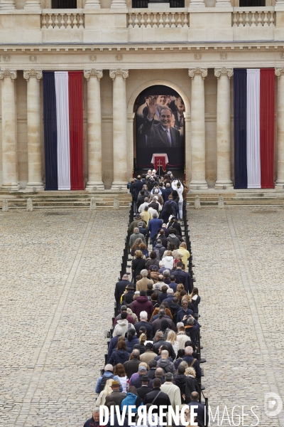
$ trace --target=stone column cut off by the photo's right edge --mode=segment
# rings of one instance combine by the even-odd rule
[[[275,188],[284,187],[284,67],[275,68],[278,77],[277,93],[277,179]]]

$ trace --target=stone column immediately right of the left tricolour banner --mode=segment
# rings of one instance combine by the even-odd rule
[[[102,181],[102,114],[100,80],[102,70],[84,71],[88,81],[87,111],[88,111],[88,181],[86,190],[92,191],[96,186],[104,190]]]

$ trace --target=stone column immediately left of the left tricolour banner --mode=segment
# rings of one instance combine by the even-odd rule
[[[27,123],[28,123],[28,184],[26,191],[43,191],[43,176],[41,168],[41,139],[40,139],[40,80],[43,73],[38,70],[23,72],[27,80]]]

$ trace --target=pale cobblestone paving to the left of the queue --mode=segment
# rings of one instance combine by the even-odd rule
[[[89,418],[127,220],[125,209],[0,214],[1,427]]]

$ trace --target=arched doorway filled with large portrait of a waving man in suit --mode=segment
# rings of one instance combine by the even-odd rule
[[[155,154],[164,154],[165,162],[158,163],[160,174],[171,170],[183,179],[185,102],[182,96],[167,85],[152,85],[136,97],[134,111],[133,154],[136,172],[152,169]],[[165,163],[168,164],[165,166]]]

